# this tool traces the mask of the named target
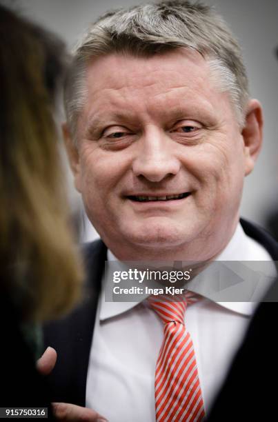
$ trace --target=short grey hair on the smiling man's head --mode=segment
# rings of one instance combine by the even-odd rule
[[[228,91],[239,125],[249,98],[239,43],[211,8],[190,1],[161,1],[106,12],[79,41],[65,89],[66,116],[72,138],[86,101],[86,68],[92,57],[112,52],[151,57],[175,48],[197,50],[209,63],[221,91]]]

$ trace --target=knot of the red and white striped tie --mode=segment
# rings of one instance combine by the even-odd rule
[[[171,296],[168,294],[152,295],[148,297],[148,303],[163,323],[179,322],[183,324],[186,307],[188,303],[191,303],[190,294],[191,292]]]

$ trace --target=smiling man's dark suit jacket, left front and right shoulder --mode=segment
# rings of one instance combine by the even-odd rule
[[[248,236],[252,237],[278,261],[278,245],[270,235],[257,226],[241,221]],[[86,376],[95,324],[97,299],[106,260],[106,246],[101,240],[84,248],[88,280],[83,303],[61,321],[45,328],[45,346],[57,350],[57,365],[50,376],[53,400],[85,405]]]

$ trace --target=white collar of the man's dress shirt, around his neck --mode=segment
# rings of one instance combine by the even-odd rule
[[[250,239],[245,233],[240,223],[238,223],[235,233],[232,235],[226,248],[219,254],[215,261],[254,261],[254,252],[258,260],[271,260],[268,252],[257,242]],[[110,250],[107,253],[108,261],[117,261],[117,258]],[[104,283],[111,281],[102,279],[102,289],[100,297],[100,312],[99,319],[101,321],[128,310],[135,308],[137,302],[106,302],[104,294]],[[143,299],[142,299],[143,301]],[[257,306],[255,302],[217,302],[223,308],[232,312],[237,312],[246,316],[252,315]]]

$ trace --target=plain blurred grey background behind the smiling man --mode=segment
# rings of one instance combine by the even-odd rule
[[[142,0],[0,0],[56,32],[69,48],[88,23],[110,8],[146,3]],[[236,35],[244,53],[250,93],[264,108],[264,147],[255,170],[246,178],[241,216],[272,231],[278,239],[278,1],[205,0],[214,5]],[[19,46],[20,48],[20,46]],[[65,160],[66,162],[66,160]],[[97,237],[86,219],[81,198],[68,174],[72,214],[81,241]]]

